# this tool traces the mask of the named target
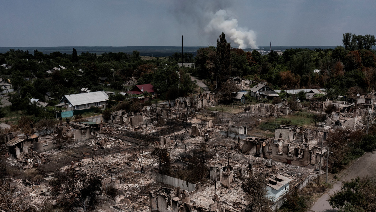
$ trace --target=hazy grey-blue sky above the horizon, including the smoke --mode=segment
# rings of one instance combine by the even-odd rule
[[[374,0],[1,0],[0,47],[337,46],[376,35]]]

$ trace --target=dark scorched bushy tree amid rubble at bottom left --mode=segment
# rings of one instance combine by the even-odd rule
[[[50,185],[55,197],[59,197],[61,201],[73,200],[74,203],[80,204],[84,211],[88,206],[94,206],[96,196],[102,190],[100,175],[57,171],[53,177]]]

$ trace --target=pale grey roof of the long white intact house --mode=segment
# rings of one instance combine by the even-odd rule
[[[108,100],[108,95],[103,90],[90,93],[76,93],[71,95],[65,95],[64,97],[67,98],[67,100],[73,106],[90,104],[94,102],[103,102],[105,100]],[[63,99],[61,99],[60,103],[64,102]]]

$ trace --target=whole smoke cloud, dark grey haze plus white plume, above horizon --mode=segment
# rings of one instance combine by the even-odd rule
[[[252,30],[240,27],[238,20],[230,15],[229,9],[232,5],[230,0],[216,1],[174,1],[173,9],[176,20],[184,28],[195,29],[197,40],[205,40],[215,45],[219,35],[224,32],[227,42],[232,46],[237,44],[240,49],[251,47],[258,49],[256,45],[256,34]]]

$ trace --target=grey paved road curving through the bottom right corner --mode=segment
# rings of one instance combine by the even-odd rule
[[[319,198],[315,204],[308,211],[313,212],[335,212],[337,209],[333,209],[327,199],[329,194],[333,194],[335,191],[339,191],[342,186],[342,181],[348,181],[355,177],[363,177],[367,175],[376,174],[376,151],[372,153],[365,153],[364,156],[360,157],[346,172],[341,176],[333,188],[324,193],[321,198]],[[324,176],[325,177],[325,176]]]

